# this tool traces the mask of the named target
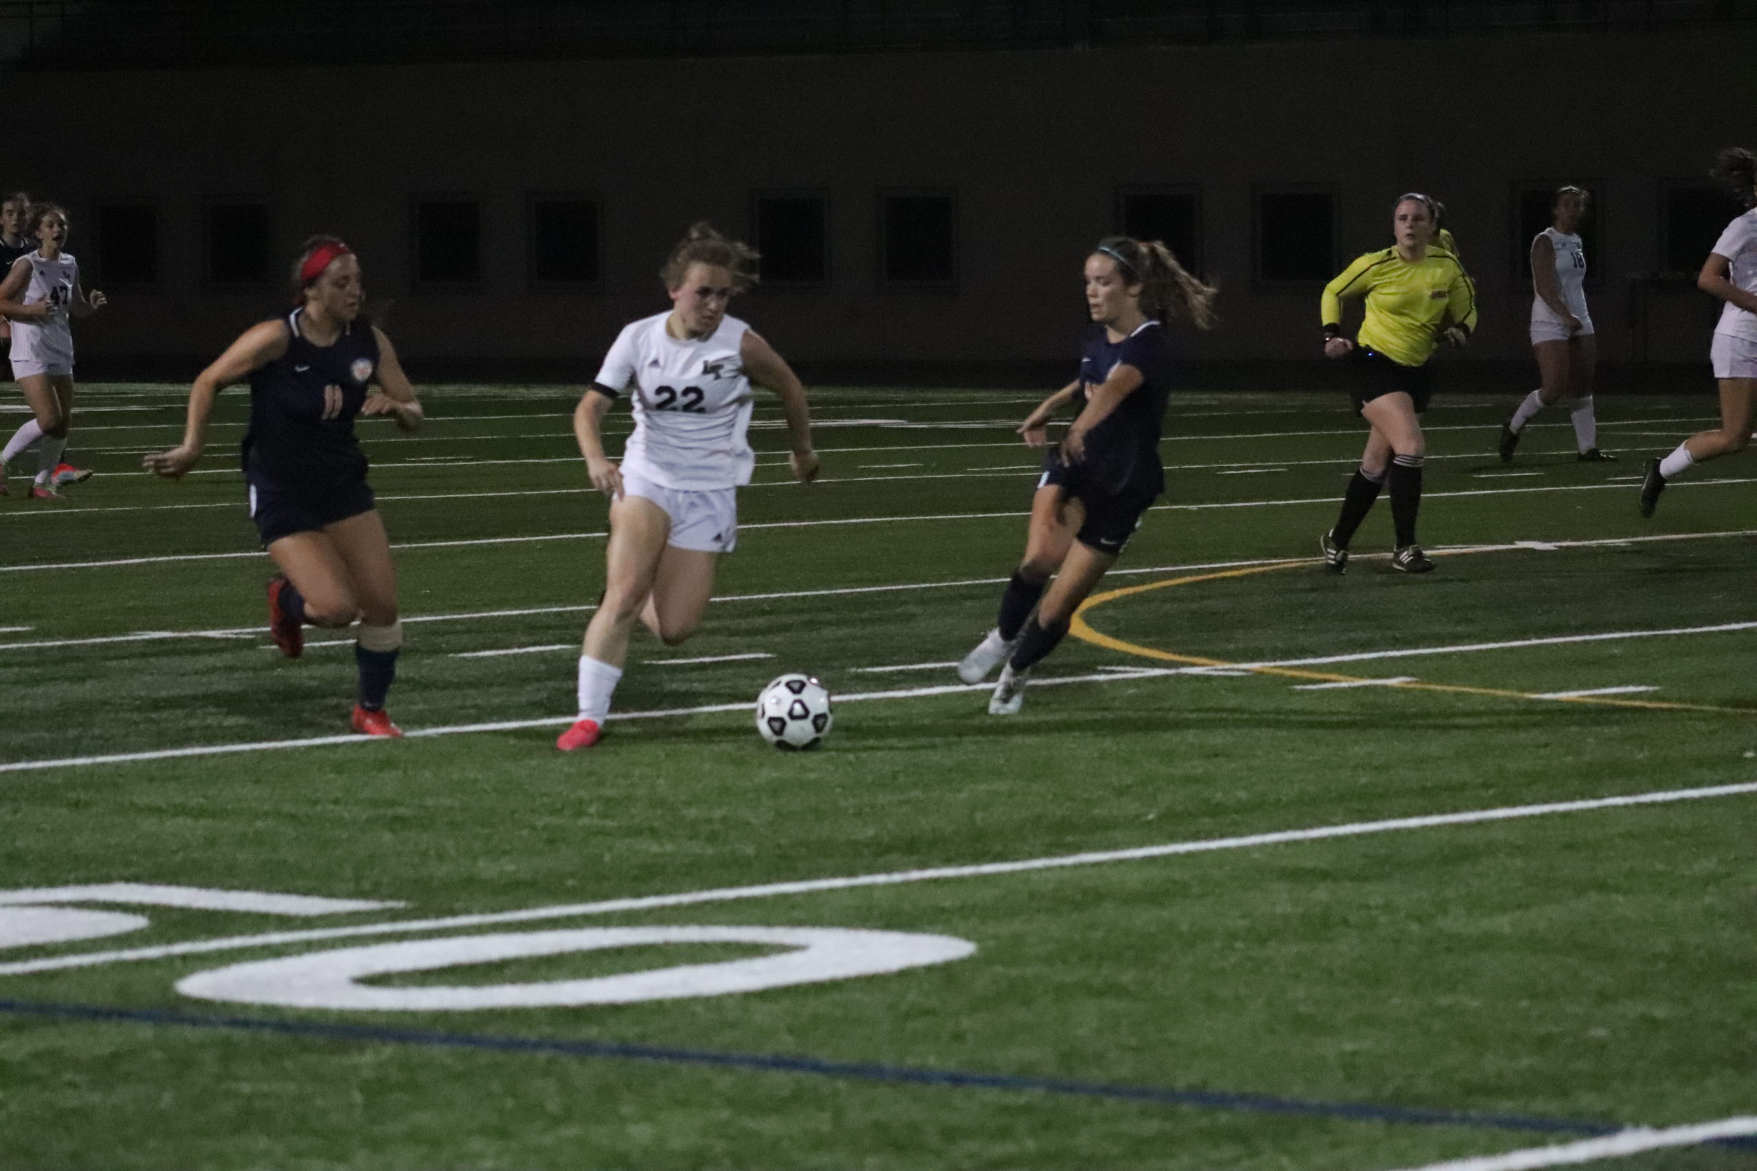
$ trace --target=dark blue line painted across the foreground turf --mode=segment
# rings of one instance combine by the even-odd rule
[[[1437,1127],[1483,1127],[1493,1131],[1536,1131],[1543,1134],[1615,1134],[1622,1124],[1583,1118],[1537,1118],[1529,1115],[1428,1110],[1421,1106],[1376,1106],[1372,1103],[1325,1103],[1267,1094],[1230,1094],[1225,1090],[1175,1090],[1156,1085],[1116,1085],[1070,1078],[1033,1078],[1007,1073],[970,1073],[959,1069],[922,1069],[877,1062],[843,1062],[784,1053],[727,1053],[717,1050],[627,1045],[620,1041],[569,1041],[562,1038],[518,1038],[481,1032],[434,1032],[427,1029],[387,1029],[381,1025],[343,1025],[315,1020],[276,1020],[272,1017],[213,1017],[162,1008],[119,1008],[107,1004],[54,1004],[0,999],[0,1013],[14,1017],[54,1017],[61,1020],[104,1020],[139,1025],[177,1025],[184,1029],[230,1029],[274,1032],[325,1041],[371,1041],[378,1045],[423,1045],[434,1048],[492,1050],[508,1053],[545,1053],[552,1057],[611,1057],[624,1060],[669,1062],[682,1066],[719,1066],[724,1069],[763,1069],[770,1073],[808,1073],[826,1078],[891,1081],[905,1085],[942,1085],[979,1090],[1024,1090],[1072,1097],[1105,1097],[1170,1106],[1239,1110],[1267,1115],[1307,1115],[1349,1122],[1402,1122]]]

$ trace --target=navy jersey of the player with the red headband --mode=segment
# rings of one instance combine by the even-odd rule
[[[378,337],[355,321],[329,346],[299,334],[286,316],[286,353],[249,376],[244,472],[297,493],[323,493],[365,481],[365,453],[353,416],[378,377]]]

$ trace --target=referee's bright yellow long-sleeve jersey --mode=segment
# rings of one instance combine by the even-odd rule
[[[1323,325],[1335,334],[1342,302],[1367,298],[1360,344],[1400,365],[1421,365],[1448,325],[1476,328],[1476,286],[1458,258],[1441,248],[1409,263],[1395,248],[1367,253],[1323,286]]]

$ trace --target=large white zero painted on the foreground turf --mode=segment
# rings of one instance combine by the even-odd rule
[[[360,983],[371,976],[437,971],[462,964],[680,943],[740,943],[787,950],[754,959],[675,964],[587,980],[445,987]],[[177,981],[177,992],[200,1001],[339,1011],[425,1013],[640,1004],[877,976],[961,960],[975,950],[973,943],[952,936],[845,927],[576,927],[378,943],[232,964],[186,976]]]

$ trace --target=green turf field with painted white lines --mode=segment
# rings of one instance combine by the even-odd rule
[[[151,384],[81,390],[90,483],[14,474],[5,1171],[1393,1171],[1757,1113],[1757,456],[1636,514],[1711,397],[1601,395],[1622,462],[1555,413],[1504,467],[1511,402],[1442,395],[1439,571],[1386,569],[1381,502],[1332,578],[1342,399],[1179,395],[1167,502],[1010,720],[951,665],[1023,548],[1037,397],[821,390],[812,486],[768,399],[703,632],[640,634],[631,718],[568,757],[575,399],[423,397],[416,437],[362,423],[401,743],[344,736],[348,641],[262,629],[239,392],[183,483],[135,471],[181,434]],[[784,671],[838,697],[821,751],[752,730]],[[685,995],[729,971],[794,976]]]

